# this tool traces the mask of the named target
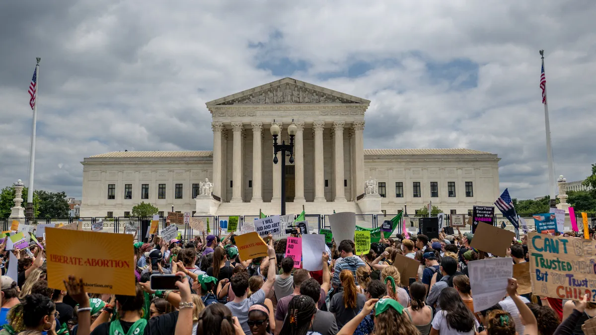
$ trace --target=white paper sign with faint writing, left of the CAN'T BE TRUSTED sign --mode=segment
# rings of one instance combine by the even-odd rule
[[[476,238],[476,235],[474,235]],[[511,258],[479,259],[468,263],[474,311],[482,311],[507,295],[507,279],[513,277]]]

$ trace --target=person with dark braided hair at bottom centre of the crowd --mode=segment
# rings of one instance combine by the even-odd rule
[[[312,300],[309,296],[294,296],[292,300],[290,300],[290,303],[288,303],[288,313],[285,315],[284,324],[281,326],[280,334],[321,335],[320,333],[316,333],[316,331],[308,331],[309,328],[311,328],[312,319],[315,317],[315,313],[315,300]]]

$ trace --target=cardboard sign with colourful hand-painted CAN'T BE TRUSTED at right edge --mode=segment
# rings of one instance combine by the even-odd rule
[[[530,232],[527,238],[534,294],[581,300],[587,293],[588,301],[596,302],[596,240],[536,232]]]

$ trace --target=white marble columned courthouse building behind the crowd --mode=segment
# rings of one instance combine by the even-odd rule
[[[307,210],[319,214],[334,209],[358,212],[356,197],[364,193],[370,176],[385,183],[381,208],[387,213],[404,204],[413,213],[429,200],[445,212],[465,213],[473,204],[491,204],[498,197],[495,154],[467,149],[365,150],[369,104],[291,78],[210,101],[213,151],[124,151],[85,158],[80,215],[123,216],[141,201],[162,212],[172,206],[193,212],[193,185],[196,190],[205,178],[213,183],[213,195],[221,197],[218,214],[254,215],[259,208],[273,214],[281,200],[281,165],[272,162],[274,122],[282,129],[280,142],[288,142],[291,123],[298,129],[294,164],[286,157],[290,208],[306,204]],[[396,197],[396,182],[403,182],[403,197]],[[412,182],[420,182],[420,197],[414,197]],[[438,197],[431,197],[430,182],[437,182]],[[455,182],[455,197],[448,196],[448,182]],[[466,197],[465,182],[473,183],[468,184],[471,197]],[[132,194],[127,196],[127,191]]]

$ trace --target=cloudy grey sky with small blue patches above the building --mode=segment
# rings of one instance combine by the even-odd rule
[[[501,189],[547,194],[545,49],[555,173],[596,163],[596,2],[2,1],[0,187],[80,197],[83,157],[211,150],[206,101],[282,77],[371,100],[366,148],[471,148]]]

